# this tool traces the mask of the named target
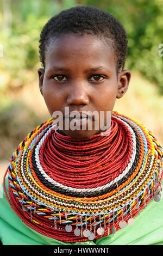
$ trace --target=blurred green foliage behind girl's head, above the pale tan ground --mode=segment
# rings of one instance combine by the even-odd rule
[[[127,31],[127,68],[139,70],[163,94],[163,0],[0,0],[0,92],[23,87],[35,79],[39,65],[39,36],[43,25],[59,11],[92,5],[109,11]],[[33,76],[31,72],[33,71]]]

